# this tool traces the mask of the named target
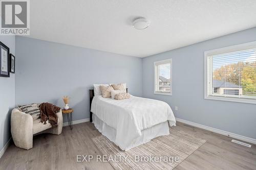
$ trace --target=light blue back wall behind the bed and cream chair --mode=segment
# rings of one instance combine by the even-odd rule
[[[89,118],[94,83],[127,83],[142,95],[142,59],[16,36],[16,104],[50,102],[63,107],[71,97],[73,120]],[[66,119],[66,117],[65,117]]]

